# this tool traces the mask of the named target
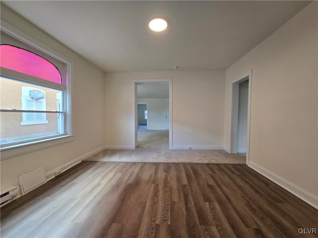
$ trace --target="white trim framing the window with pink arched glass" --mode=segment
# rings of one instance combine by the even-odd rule
[[[43,53],[47,54],[50,57],[53,57],[57,60],[60,60],[65,63],[66,65],[66,75],[67,78],[65,79],[66,82],[65,84],[67,85],[67,88],[65,89],[66,94],[68,94],[68,97],[65,97],[65,116],[69,117],[69,120],[65,120],[64,126],[64,132],[66,134],[59,136],[59,137],[54,137],[54,138],[49,138],[49,139],[44,139],[44,140],[38,140],[38,141],[33,141],[29,143],[24,143],[24,144],[18,144],[18,145],[13,145],[13,146],[7,146],[7,147],[2,147],[0,149],[1,151],[1,157],[0,160],[5,160],[9,159],[15,156],[31,153],[34,151],[46,149],[52,146],[57,146],[65,143],[69,143],[75,140],[75,135],[74,135],[74,118],[72,117],[72,88],[73,88],[73,80],[71,80],[72,75],[74,75],[74,62],[73,60],[68,59],[67,57],[61,55],[60,53],[56,52],[55,50],[49,48],[45,44],[41,43],[40,41],[34,39],[33,37],[27,35],[26,33],[22,32],[21,30],[11,26],[7,22],[1,20],[1,26],[0,26],[1,32],[23,42],[24,44],[27,44],[29,46],[32,46],[34,49],[42,51]],[[7,73],[10,74],[7,74]],[[14,72],[14,71],[13,71]],[[12,70],[2,68],[1,67],[1,74],[5,76],[14,76],[16,78],[21,78],[19,75],[21,73],[15,72],[14,75],[11,74]],[[24,77],[24,79],[26,79]],[[28,81],[28,80],[26,80]],[[34,79],[29,82],[32,83],[37,83],[41,85],[41,82],[36,82]],[[49,85],[50,82],[48,82],[47,86]],[[61,88],[63,89],[63,88]]]

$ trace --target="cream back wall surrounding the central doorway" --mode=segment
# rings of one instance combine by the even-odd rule
[[[224,71],[106,73],[106,146],[133,145],[133,79],[172,78],[172,146],[223,147]]]

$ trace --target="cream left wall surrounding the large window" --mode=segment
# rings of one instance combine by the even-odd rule
[[[45,173],[105,145],[104,73],[48,34],[1,4],[1,20],[74,61],[73,118],[75,141],[2,160],[1,191],[18,185],[17,177],[44,166]]]

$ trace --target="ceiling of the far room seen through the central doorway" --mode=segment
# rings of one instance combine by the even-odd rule
[[[138,98],[168,98],[169,83],[167,82],[148,82],[137,85]]]

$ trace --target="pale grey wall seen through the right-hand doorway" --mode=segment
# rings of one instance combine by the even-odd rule
[[[246,153],[248,80],[239,83],[238,153]]]

